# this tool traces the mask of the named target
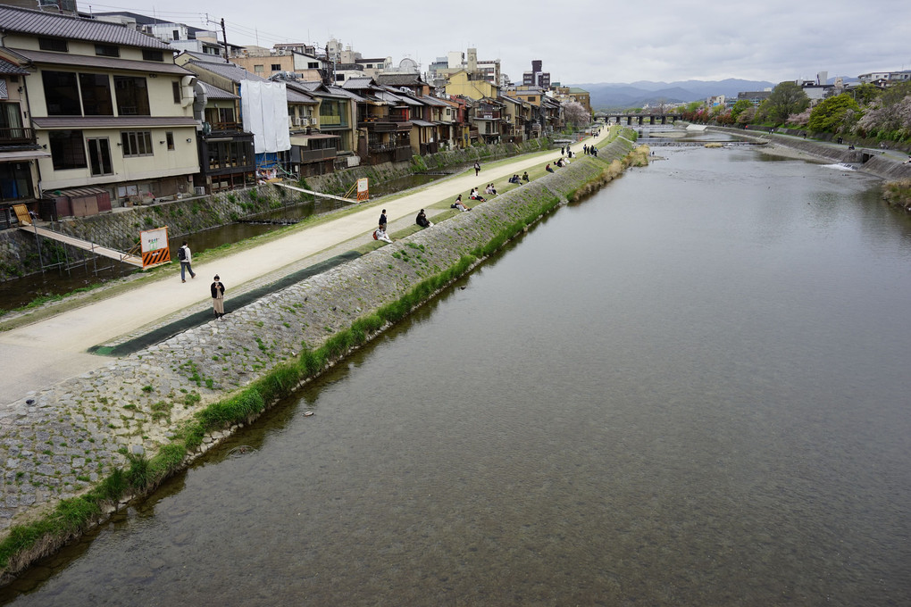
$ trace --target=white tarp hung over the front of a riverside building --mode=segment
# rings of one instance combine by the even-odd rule
[[[291,149],[283,82],[241,81],[241,114],[243,130],[253,134],[257,154]]]

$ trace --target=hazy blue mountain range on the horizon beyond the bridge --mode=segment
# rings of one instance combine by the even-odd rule
[[[689,103],[710,96],[737,96],[747,91],[763,91],[775,83],[764,80],[684,80],[681,82],[650,82],[640,80],[630,84],[599,83],[569,85],[584,88],[590,93],[590,103],[598,109],[625,109],[654,106],[660,103]]]

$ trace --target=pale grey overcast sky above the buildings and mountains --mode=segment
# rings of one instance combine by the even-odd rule
[[[365,57],[404,57],[424,72],[437,56],[476,47],[513,81],[541,59],[563,84],[744,78],[773,83],[911,69],[907,0],[392,0],[288,2],[107,0],[83,11],[128,10],[204,27],[224,18],[228,42],[272,46],[335,37]],[[199,7],[192,11],[192,8]],[[208,25],[215,28],[216,25]]]

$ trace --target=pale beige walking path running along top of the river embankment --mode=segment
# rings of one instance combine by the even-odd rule
[[[597,141],[602,143],[608,134],[609,129],[602,128]],[[584,143],[591,141],[589,137]],[[574,144],[573,153],[580,155],[582,146],[583,142]],[[514,174],[521,175],[525,170],[552,162],[558,154],[551,150],[546,155],[535,154],[511,162],[501,161],[493,167],[482,166],[477,177],[473,169],[469,169],[464,175],[390,200],[384,203],[390,226],[395,228],[396,221],[410,225],[421,208],[455,198],[471,187],[483,191],[488,183],[503,183]],[[194,309],[208,307],[209,286],[215,274],[228,287],[230,300],[232,290],[261,280],[265,275],[291,273],[302,266],[302,261],[315,263],[327,257],[327,251],[341,252],[340,248],[357,247],[369,238],[378,218],[378,207],[365,207],[258,247],[194,264],[196,278],[187,278],[186,283],[180,282],[179,268],[175,266],[168,278],[137,285],[128,292],[83,308],[0,333],[0,369],[4,369],[0,373],[0,408],[58,381],[106,365],[109,359],[87,353],[93,346],[135,333],[181,311],[186,310],[189,314]]]

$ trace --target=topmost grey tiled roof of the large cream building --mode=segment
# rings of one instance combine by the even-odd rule
[[[49,35],[70,40],[170,50],[170,46],[158,38],[123,25],[69,15],[55,15],[16,6],[0,5],[0,29],[18,34]]]

